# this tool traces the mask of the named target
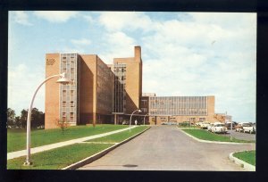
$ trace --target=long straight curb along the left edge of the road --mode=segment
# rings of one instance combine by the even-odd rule
[[[149,128],[151,128],[151,127],[149,127]],[[69,166],[63,168],[62,170],[76,170],[76,169],[78,169],[78,168],[80,168],[80,167],[82,167],[82,166],[84,166],[84,165],[86,165],[86,164],[88,164],[88,163],[91,163],[92,161],[96,161],[97,159],[103,157],[106,153],[109,153],[109,152],[113,151],[113,149],[117,148],[118,146],[123,145],[123,144],[129,142],[129,141],[130,141],[131,139],[133,139],[134,137],[139,136],[139,135],[141,135],[142,133],[146,132],[149,128],[147,128],[147,129],[145,129],[144,131],[142,131],[142,132],[136,134],[135,136],[131,136],[131,137],[129,137],[129,138],[123,140],[123,141],[122,141],[121,143],[119,143],[119,144],[110,146],[109,148],[106,148],[105,150],[103,150],[103,151],[101,151],[101,152],[99,152],[99,153],[95,153],[94,155],[91,155],[91,156],[89,156],[88,158],[85,158],[85,159],[83,159],[83,160],[81,160],[81,161],[77,161],[77,162],[75,162],[75,163],[73,163],[73,164],[71,164],[71,165],[69,165]]]

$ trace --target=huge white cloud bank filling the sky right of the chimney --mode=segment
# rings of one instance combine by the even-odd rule
[[[143,91],[215,95],[216,112],[255,121],[255,14],[189,15],[191,21],[157,23],[153,34],[142,37],[143,52],[150,54]]]

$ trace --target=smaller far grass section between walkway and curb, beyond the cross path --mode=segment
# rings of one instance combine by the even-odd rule
[[[136,128],[131,128],[131,130],[122,131],[120,133],[116,133],[110,136],[103,136],[96,139],[88,140],[87,142],[108,142],[108,143],[120,143],[121,141],[129,138],[130,136],[134,136],[145,129],[147,126],[138,126]]]

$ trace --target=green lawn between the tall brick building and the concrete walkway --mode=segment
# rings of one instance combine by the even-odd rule
[[[127,128],[126,125],[96,125],[69,127],[62,133],[61,128],[38,129],[30,132],[31,147],[49,145],[84,136],[93,136],[116,129]],[[26,149],[26,129],[7,129],[7,152]]]

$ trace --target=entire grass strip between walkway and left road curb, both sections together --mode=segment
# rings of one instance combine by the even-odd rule
[[[77,161],[83,160],[95,153],[105,150],[106,148],[119,143],[130,136],[137,135],[148,127],[140,126],[131,128],[131,130],[122,131],[110,136],[103,136],[90,142],[96,143],[80,143],[74,145],[67,145],[53,150],[45,151],[42,153],[34,153],[31,155],[33,162],[32,166],[23,166],[25,156],[15,158],[7,161],[8,170],[60,170],[66,166],[71,165]],[[104,144],[105,143],[105,144]],[[110,143],[110,144],[109,144]]]

